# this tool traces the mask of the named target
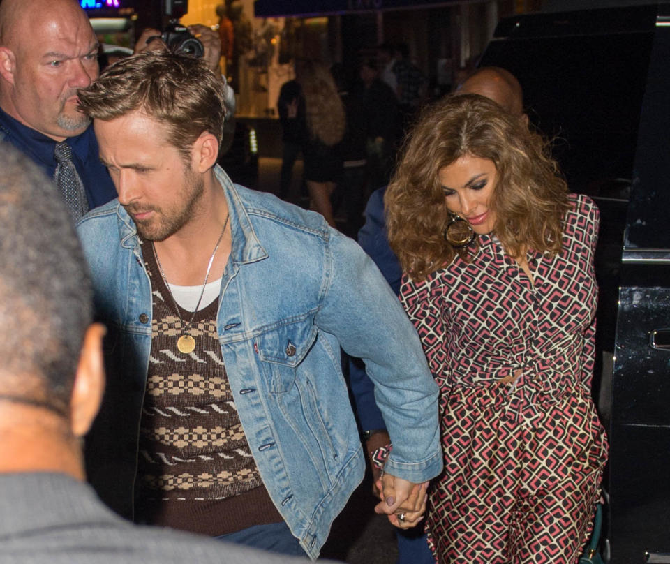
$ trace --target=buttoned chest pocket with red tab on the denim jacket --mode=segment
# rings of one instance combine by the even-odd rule
[[[255,342],[274,394],[288,392],[295,382],[296,368],[316,340],[316,327],[306,320],[282,325],[260,334]]]

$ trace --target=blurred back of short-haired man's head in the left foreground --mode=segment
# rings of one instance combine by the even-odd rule
[[[77,438],[101,401],[103,328],[79,241],[52,183],[0,150],[0,472],[83,477]]]

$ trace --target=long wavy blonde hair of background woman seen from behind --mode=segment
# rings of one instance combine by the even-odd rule
[[[305,97],[309,132],[329,147],[338,144],[344,137],[347,120],[330,69],[317,61],[305,61],[299,82]]]

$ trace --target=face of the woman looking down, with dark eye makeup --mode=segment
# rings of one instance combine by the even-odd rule
[[[493,161],[472,155],[463,155],[438,172],[447,209],[470,223],[477,235],[490,233],[496,223],[489,202],[497,180]]]

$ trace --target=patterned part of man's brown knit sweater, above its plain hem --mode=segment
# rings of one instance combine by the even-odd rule
[[[262,486],[225,373],[216,328],[218,299],[195,313],[188,333],[195,350],[182,353],[184,334],[174,304],[143,249],[153,288],[151,353],[140,422],[138,497],[221,500]],[[168,299],[166,300],[165,297]],[[181,311],[183,319],[191,312]]]

